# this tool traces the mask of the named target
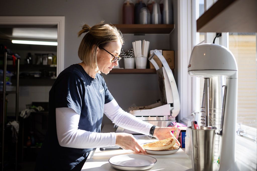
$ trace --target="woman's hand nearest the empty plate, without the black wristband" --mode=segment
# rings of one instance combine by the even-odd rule
[[[145,149],[138,144],[135,137],[132,134],[127,133],[115,133],[116,134],[116,145],[120,146],[125,150],[132,150],[136,153],[147,154]]]

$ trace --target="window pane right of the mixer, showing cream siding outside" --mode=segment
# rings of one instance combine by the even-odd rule
[[[256,33],[229,33],[238,67],[237,123],[257,128]]]

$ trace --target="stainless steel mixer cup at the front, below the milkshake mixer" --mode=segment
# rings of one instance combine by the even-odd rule
[[[200,129],[192,129],[189,127],[193,170],[213,170],[216,129],[215,127],[203,126],[200,126]]]

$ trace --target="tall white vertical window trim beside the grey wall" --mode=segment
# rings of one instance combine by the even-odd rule
[[[192,51],[191,1],[178,1],[178,92],[181,109],[178,122],[187,124],[192,113],[192,77],[188,63]]]

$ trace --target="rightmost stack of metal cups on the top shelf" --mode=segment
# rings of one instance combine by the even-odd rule
[[[173,24],[173,11],[170,0],[163,0],[162,21],[163,24]]]

